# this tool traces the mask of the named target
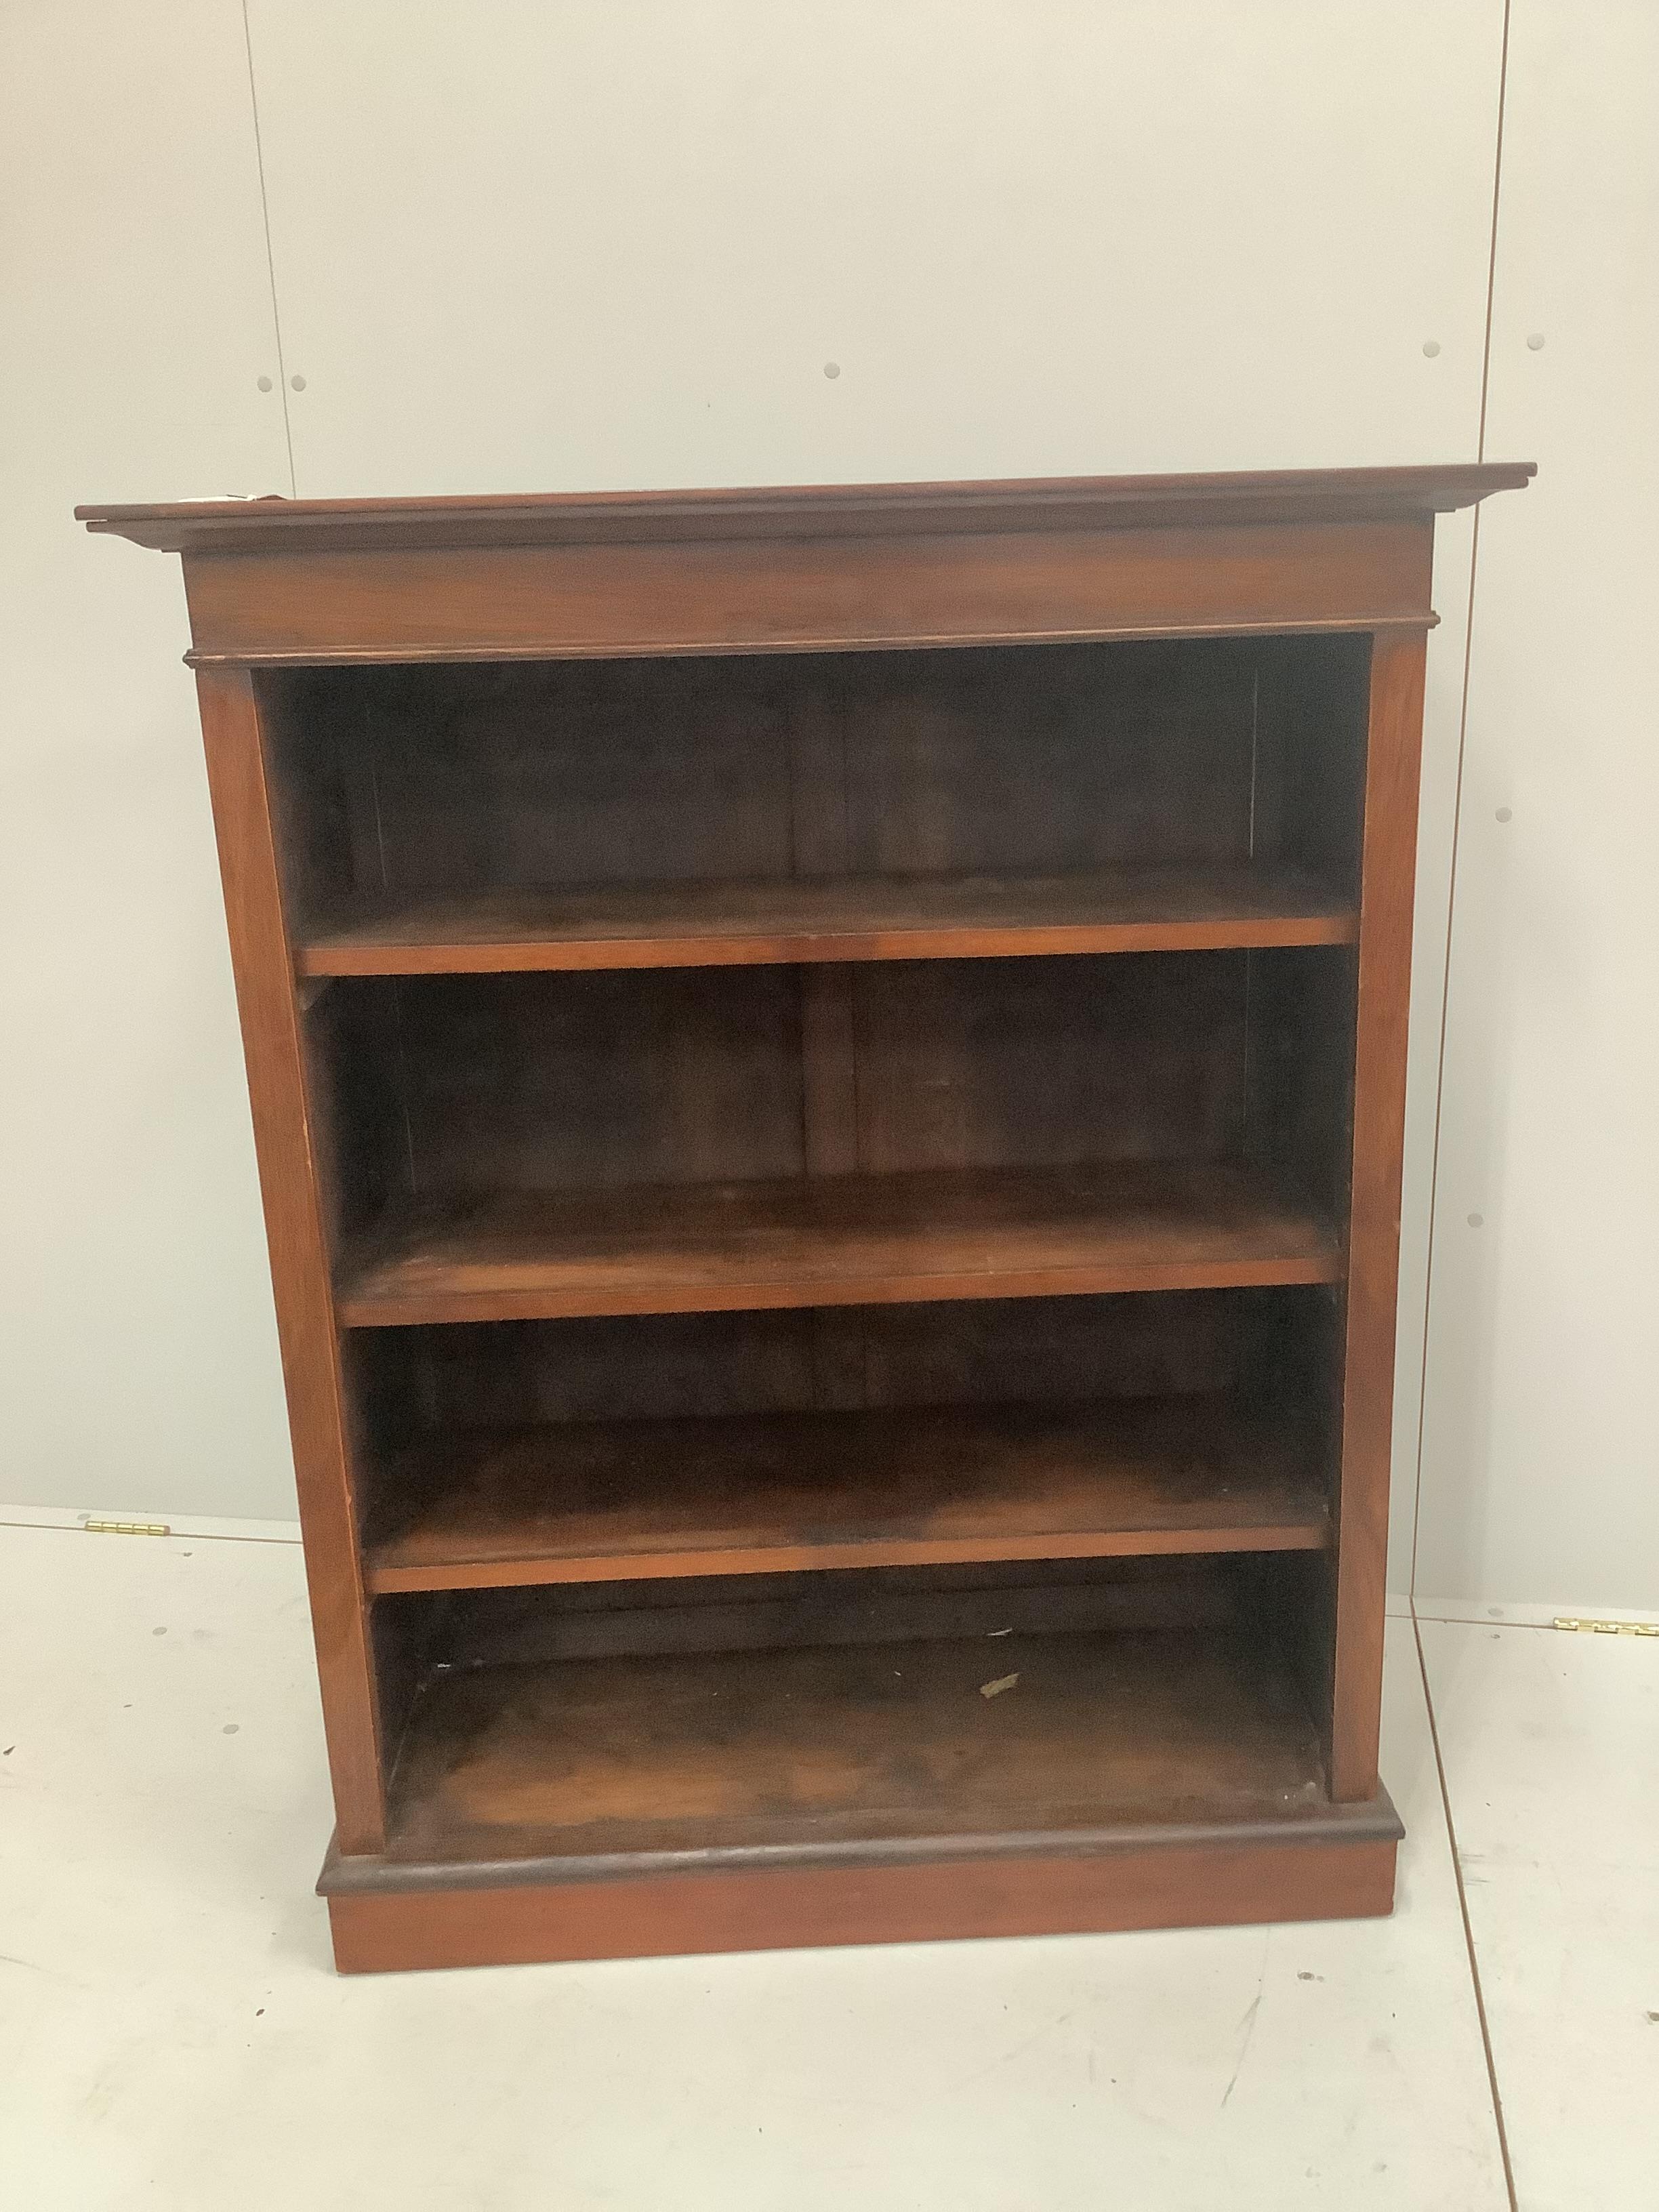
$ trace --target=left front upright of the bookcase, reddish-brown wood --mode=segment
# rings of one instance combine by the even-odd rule
[[[376,1674],[261,717],[248,675],[204,670],[197,690],[254,1108],[334,1807],[343,1847],[372,1851],[383,1838]]]

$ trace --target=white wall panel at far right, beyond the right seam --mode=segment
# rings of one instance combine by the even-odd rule
[[[1655,115],[1652,0],[1515,0],[1418,1597],[1659,1608]]]

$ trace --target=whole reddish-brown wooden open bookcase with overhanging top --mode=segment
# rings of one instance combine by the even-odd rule
[[[80,511],[184,555],[343,1969],[1389,1909],[1433,515],[1526,476]]]

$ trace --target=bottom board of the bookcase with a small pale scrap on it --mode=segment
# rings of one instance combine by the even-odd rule
[[[436,1674],[387,1858],[599,1876],[1323,1809],[1314,1723],[1237,1630],[807,1644]]]

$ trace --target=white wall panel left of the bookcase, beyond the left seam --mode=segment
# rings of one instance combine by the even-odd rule
[[[0,1498],[292,1513],[177,562],[288,487],[237,0],[0,15]]]

